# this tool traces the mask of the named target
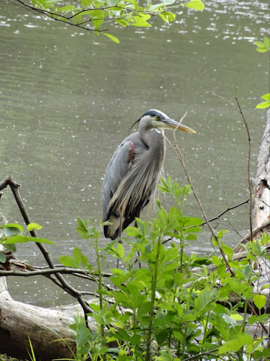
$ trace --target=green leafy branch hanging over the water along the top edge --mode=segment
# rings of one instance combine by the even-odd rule
[[[104,23],[108,21],[120,27],[150,27],[148,21],[151,16],[158,16],[169,23],[176,18],[176,13],[172,12],[176,8],[186,7],[199,11],[205,8],[200,0],[173,5],[174,3],[175,0],[160,0],[158,4],[152,4],[151,0],[146,4],[139,4],[137,0],[79,0],[76,4],[73,0],[20,0],[20,5],[24,4],[25,8],[37,11],[39,15],[42,13],[54,20],[91,30],[95,35],[105,35],[116,43],[119,43],[117,37],[103,30]]]

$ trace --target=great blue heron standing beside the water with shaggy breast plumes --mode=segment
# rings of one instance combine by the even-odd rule
[[[115,240],[135,217],[139,217],[155,192],[165,158],[163,129],[194,130],[152,109],[136,121],[139,132],[129,135],[117,147],[103,183],[103,221],[106,238]]]

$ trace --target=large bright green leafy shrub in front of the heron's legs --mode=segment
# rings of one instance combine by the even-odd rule
[[[103,224],[96,228],[94,221],[78,219],[77,231],[94,247],[96,264],[89,262],[77,247],[72,257],[61,256],[59,260],[66,267],[89,271],[98,285],[99,301],[89,305],[93,312],[88,317],[97,325],[95,333],[87,329],[83,317],[75,317],[71,326],[77,341],[75,360],[91,356],[91,360],[177,361],[207,353],[211,356],[204,360],[258,360],[267,353],[264,338],[252,338],[248,327],[269,318],[264,313],[265,296],[253,293],[253,283],[259,277],[255,264],[257,257],[266,257],[269,236],[248,243],[248,255],[234,262],[233,250],[223,241],[226,231],[217,232],[219,247],[233,269],[232,276],[223,258],[185,252],[203,223],[184,214],[190,187],[179,188],[168,177],[162,178],[160,190],[173,197],[175,207],[167,211],[158,202],[155,218],[148,222],[136,219],[138,227],[127,228],[122,243],[114,241],[101,248],[98,237]],[[139,255],[141,268],[134,262],[135,255]],[[105,286],[102,280],[102,265],[110,256],[122,262],[122,269],[111,269],[114,288]],[[208,272],[205,265],[211,263],[217,268]],[[193,273],[193,267],[201,271]],[[231,305],[231,293],[242,301]],[[259,314],[248,319],[250,302]],[[243,315],[239,313],[241,308]],[[110,348],[111,343],[117,346]]]

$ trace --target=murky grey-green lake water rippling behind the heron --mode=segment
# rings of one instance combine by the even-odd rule
[[[115,44],[1,1],[0,181],[11,175],[22,185],[32,221],[43,226],[39,236],[56,242],[49,247],[54,259],[70,254],[75,245],[91,258],[89,244],[76,233],[77,216],[101,219],[108,161],[148,109],[160,109],[176,121],[187,111],[183,123],[197,133],[179,132],[176,139],[185,148],[188,171],[209,218],[248,199],[243,120],[206,91],[232,101],[237,94],[252,136],[254,176],[266,114],[255,106],[269,91],[269,56],[255,51],[253,43],[268,35],[268,8],[266,0],[207,1],[205,11],[184,8],[169,25],[152,20],[150,28],[127,31],[109,26],[120,39]],[[172,133],[167,136],[173,139]],[[169,147],[168,174],[187,183]],[[160,197],[166,207],[172,204]],[[9,222],[23,224],[11,190],[4,190],[0,208]],[[232,224],[245,234],[248,212],[245,204],[226,213],[219,228]],[[185,213],[201,216],[192,195]],[[240,237],[230,231],[225,240],[236,245]],[[203,228],[189,252],[211,251],[210,233]],[[18,247],[17,257],[43,263],[35,245]],[[70,301],[40,278],[8,281],[18,300],[39,305]],[[34,293],[33,283],[39,283]]]

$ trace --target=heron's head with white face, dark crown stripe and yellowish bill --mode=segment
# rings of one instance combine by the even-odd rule
[[[195,130],[184,126],[184,124],[173,121],[169,116],[162,113],[162,111],[151,109],[146,111],[146,114],[143,114],[140,121],[148,122],[150,128],[159,128],[159,129],[179,129],[184,130],[188,133],[196,133]]]

